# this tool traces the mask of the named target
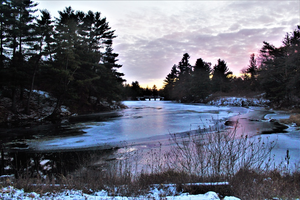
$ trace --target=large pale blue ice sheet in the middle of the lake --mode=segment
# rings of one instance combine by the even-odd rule
[[[181,104],[168,101],[125,101],[128,109],[120,110],[119,117],[104,122],[78,123],[84,134],[61,138],[34,140],[29,144],[36,150],[63,150],[101,147],[120,141],[151,141],[169,133],[181,133],[196,129],[205,120],[225,119],[248,109],[197,104]],[[203,120],[203,121],[202,121]],[[74,125],[72,125],[74,126]]]

